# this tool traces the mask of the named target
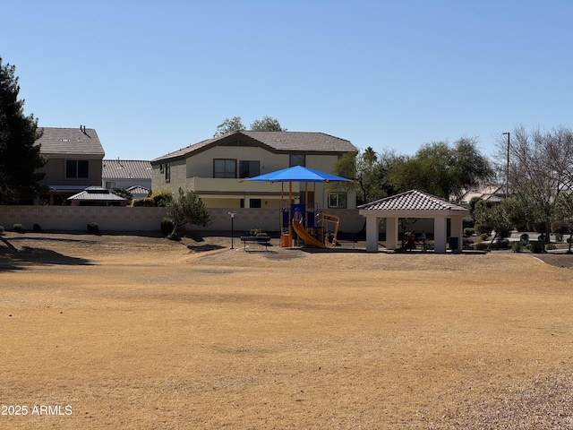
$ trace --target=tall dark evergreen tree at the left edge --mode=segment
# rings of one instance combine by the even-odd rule
[[[0,57],[0,203],[29,200],[41,190],[44,174],[36,170],[47,163],[34,142],[40,137],[38,120],[25,116],[24,100],[15,66]]]

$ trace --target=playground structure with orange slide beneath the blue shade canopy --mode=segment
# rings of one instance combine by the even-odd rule
[[[281,208],[281,240],[282,247],[291,247],[293,243],[300,246],[315,248],[335,247],[337,245],[338,225],[340,219],[335,215],[323,213],[320,210],[307,211],[304,203],[285,205]],[[295,237],[293,235],[295,232]],[[332,234],[332,241],[329,235]]]

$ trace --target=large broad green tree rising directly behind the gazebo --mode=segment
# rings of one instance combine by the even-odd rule
[[[389,168],[388,181],[398,192],[418,189],[449,200],[493,176],[475,139],[462,137],[453,147],[447,142],[426,143],[414,157],[397,160]]]

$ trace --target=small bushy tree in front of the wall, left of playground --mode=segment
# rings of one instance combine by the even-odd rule
[[[184,192],[179,188],[178,195],[167,202],[166,207],[174,223],[173,231],[169,235],[171,238],[177,237],[177,229],[184,227],[185,224],[206,227],[211,223],[205,203],[192,191]]]

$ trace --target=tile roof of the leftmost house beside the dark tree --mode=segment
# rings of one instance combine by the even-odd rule
[[[85,132],[78,128],[38,127],[42,136],[35,142],[40,152],[47,155],[83,155],[103,158],[105,151],[93,128]]]

